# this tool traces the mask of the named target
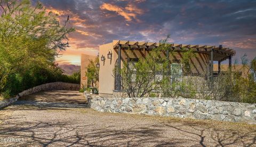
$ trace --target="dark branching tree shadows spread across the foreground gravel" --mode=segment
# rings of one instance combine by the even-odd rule
[[[43,122],[23,121],[3,125],[0,134],[1,137],[23,138],[23,142],[9,144],[19,146],[255,146],[256,140],[256,130],[241,133],[206,126],[201,128],[193,123],[135,125],[128,129],[117,129],[115,124],[104,128],[79,123],[81,122],[78,120],[57,119]],[[163,135],[166,127],[172,130],[171,134],[167,134],[171,137]],[[177,138],[175,134],[182,135],[183,138]]]

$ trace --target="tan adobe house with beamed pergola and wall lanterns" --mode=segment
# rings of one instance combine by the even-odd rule
[[[115,76],[113,74],[115,67],[117,70],[121,69],[124,61],[127,61],[128,64],[137,62],[138,59],[145,58],[153,48],[158,46],[159,43],[132,42],[129,40],[113,40],[111,43],[100,45],[99,96],[115,97],[122,91],[121,76]],[[195,75],[205,72],[210,72],[213,75],[213,61],[218,61],[218,73],[220,73],[221,62],[228,59],[229,67],[231,67],[231,57],[236,53],[234,50],[222,47],[221,45],[171,44],[170,49],[161,54],[162,58],[170,60],[170,68],[181,64],[182,54],[187,51],[184,48],[187,50],[191,49],[195,52],[195,56],[190,60],[190,67]],[[170,52],[174,52],[174,54],[170,54]],[[180,67],[182,68],[182,66]]]

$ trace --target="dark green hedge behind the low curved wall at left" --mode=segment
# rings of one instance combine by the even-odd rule
[[[6,81],[1,95],[3,97],[15,96],[18,93],[38,85],[62,81],[66,83],[80,84],[80,72],[73,75],[63,75],[60,68],[52,66],[48,68],[33,67],[24,74],[11,74]]]

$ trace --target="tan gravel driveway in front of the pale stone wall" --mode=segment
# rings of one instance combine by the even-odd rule
[[[89,108],[12,105],[0,109],[0,146],[256,146],[255,142],[256,125]]]

